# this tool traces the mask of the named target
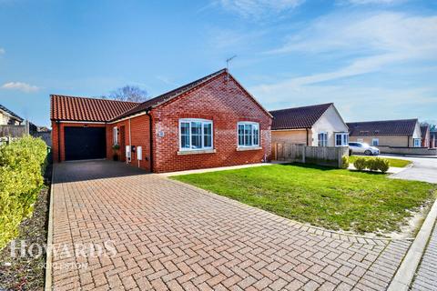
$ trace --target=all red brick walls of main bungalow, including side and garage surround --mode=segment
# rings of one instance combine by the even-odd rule
[[[150,126],[150,117],[152,126]],[[179,119],[201,118],[211,120],[213,125],[213,152],[189,155],[179,152]],[[238,149],[238,122],[259,123],[258,149],[241,151]],[[107,126],[107,159],[114,156],[113,127],[117,126],[117,151],[121,161],[125,160],[125,146],[142,146],[143,159],[139,166],[147,171],[172,172],[217,166],[235,166],[259,163],[270,158],[271,126],[270,115],[244,90],[231,75],[218,75],[207,83],[178,95],[163,105],[153,108],[149,115],[141,113],[127,117],[122,121],[106,125],[87,124],[88,126]],[[53,154],[57,161],[57,124],[53,124]],[[61,123],[61,161],[65,159],[63,145],[63,127],[84,126],[85,124]],[[150,151],[150,127],[153,144]],[[130,137],[130,138],[129,138]],[[150,161],[153,161],[151,169]],[[128,164],[138,166],[137,153],[132,153]]]

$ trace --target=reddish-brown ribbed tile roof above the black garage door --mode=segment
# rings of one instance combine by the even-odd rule
[[[136,102],[50,95],[50,119],[107,122],[137,105]]]

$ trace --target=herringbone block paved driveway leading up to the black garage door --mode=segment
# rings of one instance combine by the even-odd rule
[[[56,290],[384,290],[411,244],[302,226],[115,162],[56,165],[53,191]],[[115,256],[77,256],[107,240]]]

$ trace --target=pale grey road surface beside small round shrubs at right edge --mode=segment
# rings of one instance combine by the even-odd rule
[[[408,156],[386,157],[401,158],[404,160],[410,160],[414,163],[412,167],[401,171],[398,174],[392,175],[391,178],[437,183],[437,158]]]

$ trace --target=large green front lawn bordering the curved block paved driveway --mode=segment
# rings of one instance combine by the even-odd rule
[[[313,226],[356,233],[399,230],[437,185],[300,164],[172,178]]]

